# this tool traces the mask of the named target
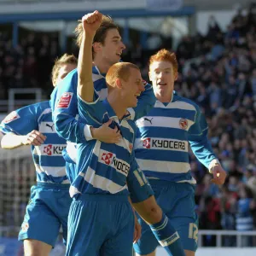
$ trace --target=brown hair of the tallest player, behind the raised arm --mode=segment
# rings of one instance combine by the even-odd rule
[[[101,26],[99,26],[99,28],[96,31],[96,34],[95,34],[95,36],[93,38],[93,44],[94,43],[104,44],[106,36],[107,36],[107,32],[110,29],[117,29],[117,30],[119,30],[119,26],[117,26],[113,22],[113,20],[112,20],[112,18],[110,16],[103,15],[102,16],[102,24],[101,24]],[[80,48],[81,43],[82,43],[83,33],[84,33],[82,20],[79,20],[79,25],[75,28],[74,33],[77,36],[76,43],[77,43],[77,45]],[[94,55],[94,54],[95,53],[94,53],[94,50],[92,48],[92,55]]]

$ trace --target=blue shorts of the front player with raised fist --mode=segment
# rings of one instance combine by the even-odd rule
[[[127,195],[79,195],[68,215],[66,256],[131,256],[133,232]]]

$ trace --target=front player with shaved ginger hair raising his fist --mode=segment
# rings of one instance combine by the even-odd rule
[[[78,165],[70,194],[67,255],[130,256],[134,213],[128,200],[126,177],[133,160],[136,131],[127,108],[137,106],[144,90],[139,68],[119,62],[106,75],[108,98],[94,95],[91,44],[102,15],[86,15],[84,43],[79,53],[79,119],[95,127],[112,120],[122,137],[118,144],[92,140],[78,144]],[[86,37],[85,37],[86,34]]]

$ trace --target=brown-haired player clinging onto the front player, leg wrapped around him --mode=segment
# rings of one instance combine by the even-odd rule
[[[77,27],[77,32],[78,44],[80,46],[84,33],[82,23]],[[102,24],[97,29],[93,40],[94,67],[92,68],[92,79],[97,94],[100,96],[100,99],[104,99],[107,95],[107,85],[102,73],[106,73],[113,63],[119,61],[120,53],[125,49],[125,46],[121,42],[118,27],[113,23],[113,20],[106,16],[103,16]],[[78,113],[77,84],[78,73],[73,71],[53,92],[52,102],[55,103],[52,105],[52,108],[54,109],[56,130],[60,135],[73,143],[85,143],[92,139],[94,135],[93,132],[92,136],[90,135],[91,126],[86,126],[84,121],[75,119]],[[154,105],[154,101],[153,90],[147,84],[145,91],[138,97],[137,107],[129,108],[131,119],[137,119],[148,113],[148,110]],[[70,143],[68,144],[70,145]],[[67,146],[67,148],[72,147]],[[75,148],[69,151],[70,156],[74,156],[74,151]],[[160,244],[165,247],[169,255],[184,255],[176,230],[172,228],[168,218],[166,218],[166,215],[163,214],[160,207],[156,204],[151,188],[148,186],[147,180],[143,177],[142,173],[139,172],[137,163],[131,166],[134,168],[134,172],[131,172],[131,179],[128,175],[127,184],[131,192],[133,206],[148,224],[152,224],[151,228],[154,235],[158,238]],[[69,177],[73,178],[72,175],[69,175]],[[163,225],[163,223],[165,224]]]

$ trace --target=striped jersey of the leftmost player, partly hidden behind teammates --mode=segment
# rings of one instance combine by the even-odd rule
[[[66,141],[55,131],[48,102],[39,102],[20,108],[3,119],[0,131],[26,135],[37,130],[46,136],[44,144],[32,146],[32,158],[37,171],[37,181],[44,183],[69,183],[62,149]]]

